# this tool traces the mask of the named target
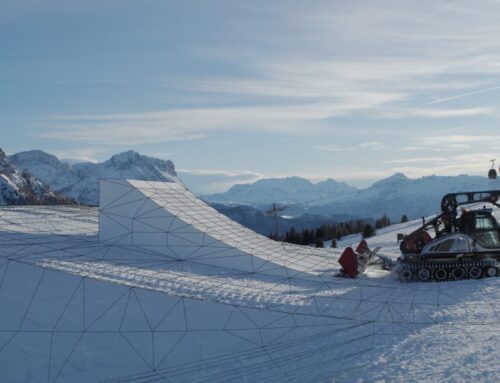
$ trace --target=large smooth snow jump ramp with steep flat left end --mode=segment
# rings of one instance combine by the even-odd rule
[[[242,273],[290,276],[333,268],[331,252],[272,241],[232,221],[177,182],[103,180],[101,241]]]

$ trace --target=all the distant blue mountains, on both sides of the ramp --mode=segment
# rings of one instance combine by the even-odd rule
[[[43,183],[47,190],[94,206],[98,204],[100,178],[180,182],[172,161],[133,151],[116,154],[97,164],[68,164],[39,150],[4,156],[4,159],[17,169],[18,176],[26,169],[27,174]],[[403,214],[417,218],[438,212],[441,198],[450,192],[492,189],[500,189],[500,180],[469,175],[410,179],[396,173],[365,189],[332,179],[314,184],[300,177],[270,178],[235,185],[225,193],[205,195],[203,199],[236,220],[253,222],[249,225],[260,227],[258,231],[263,232],[269,229],[271,217],[262,218],[262,211],[270,209],[273,203],[286,207],[280,212],[284,220],[299,217],[309,217],[309,222],[311,217],[318,222],[325,217],[375,219],[386,214],[395,221]]]

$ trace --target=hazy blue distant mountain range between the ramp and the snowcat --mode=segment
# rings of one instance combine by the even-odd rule
[[[318,191],[320,189],[320,191]],[[226,193],[204,196],[208,201],[269,206],[272,202],[292,202],[286,214],[348,214],[378,218],[387,214],[399,220],[431,215],[439,210],[441,198],[451,192],[500,189],[500,180],[479,176],[429,176],[409,179],[397,173],[366,189],[356,189],[333,180],[313,185],[301,178],[269,179],[236,185]]]

